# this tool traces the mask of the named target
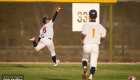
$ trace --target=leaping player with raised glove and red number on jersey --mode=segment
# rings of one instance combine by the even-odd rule
[[[48,47],[48,49],[51,53],[51,56],[52,56],[52,60],[54,62],[54,66],[57,66],[60,61],[56,59],[56,53],[55,53],[55,48],[54,48],[54,43],[53,43],[53,35],[54,35],[53,23],[57,17],[58,12],[61,9],[62,8],[60,8],[60,7],[56,8],[56,13],[54,14],[52,19],[48,18],[48,17],[43,18],[42,21],[43,21],[44,25],[40,29],[38,44],[35,41],[35,37],[29,39],[30,41],[33,42],[33,46],[36,51],[39,51],[40,49],[44,48],[45,46]]]

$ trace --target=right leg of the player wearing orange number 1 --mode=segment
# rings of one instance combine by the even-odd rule
[[[95,73],[96,67],[97,67],[97,60],[98,60],[99,50],[98,46],[93,47],[93,51],[90,55],[90,75],[89,80],[92,80],[92,77]]]

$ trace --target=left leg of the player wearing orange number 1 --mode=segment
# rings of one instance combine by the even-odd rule
[[[87,63],[89,60],[89,52],[90,52],[90,46],[89,45],[84,45],[83,46],[83,52],[82,52],[82,65],[83,65],[83,74],[82,74],[82,78],[83,80],[86,80],[87,78]]]

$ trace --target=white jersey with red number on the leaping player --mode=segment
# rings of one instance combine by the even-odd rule
[[[50,20],[49,23],[45,24],[41,29],[40,29],[40,38],[48,37],[48,38],[53,38],[54,31],[53,31],[53,22]]]

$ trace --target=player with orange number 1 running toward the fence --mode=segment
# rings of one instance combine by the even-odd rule
[[[88,80],[92,80],[97,66],[99,55],[99,44],[106,38],[106,29],[96,22],[97,11],[90,10],[90,22],[83,25],[81,33],[81,41],[83,42],[82,65],[83,65],[83,80],[87,78],[87,63],[90,59],[90,75]]]

